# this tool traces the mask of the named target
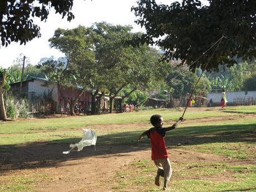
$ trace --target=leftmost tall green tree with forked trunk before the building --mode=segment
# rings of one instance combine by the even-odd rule
[[[80,93],[70,99],[61,92],[63,99],[70,104],[71,115],[75,115],[73,104],[91,83],[92,66],[95,66],[92,33],[91,29],[82,26],[66,30],[58,28],[49,40],[50,46],[65,53],[67,63],[48,60],[38,65],[47,75],[49,83],[57,83],[61,90],[65,87],[77,90],[78,86],[82,86]]]

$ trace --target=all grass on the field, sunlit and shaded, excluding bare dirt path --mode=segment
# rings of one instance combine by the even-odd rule
[[[76,143],[81,140],[81,129],[86,126],[97,132],[97,145],[128,146],[131,151],[139,150],[140,146],[149,149],[150,141],[147,138],[140,143],[136,139],[142,131],[151,127],[150,116],[160,114],[164,117],[165,125],[171,125],[183,114],[183,110],[182,108],[156,109],[125,114],[7,121],[0,124],[0,153],[15,152],[20,144],[29,146],[29,142],[47,141],[51,145],[63,142],[67,145]],[[170,150],[179,148],[198,151],[230,158],[234,162],[236,160],[255,162],[256,118],[247,115],[255,112],[255,106],[236,106],[226,109],[189,108],[185,114],[186,121],[177,129],[166,133],[166,146]],[[222,117],[227,118],[221,119]],[[136,122],[144,124],[133,125]],[[108,129],[105,126],[108,126]],[[8,162],[8,159],[3,161],[0,159],[0,165],[5,161]],[[256,165],[191,161],[172,163],[172,166],[174,169],[173,179],[170,182],[172,191],[256,191]],[[150,159],[127,165],[124,170],[116,173],[114,179],[117,185],[114,191],[162,191],[154,185],[155,171],[155,165]],[[3,173],[4,171],[0,172],[0,191],[33,191],[37,183],[50,179],[48,175],[3,176]]]

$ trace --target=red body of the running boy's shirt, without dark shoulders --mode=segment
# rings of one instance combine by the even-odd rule
[[[150,131],[150,141],[152,160],[168,158],[164,136],[161,136],[156,130]]]

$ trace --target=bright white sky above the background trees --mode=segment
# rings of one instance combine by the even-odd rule
[[[173,0],[159,0],[157,2],[171,3]],[[13,64],[13,61],[23,53],[29,57],[31,64],[36,65],[42,57],[55,58],[64,56],[60,51],[50,48],[48,39],[51,38],[57,28],[71,29],[82,26],[90,27],[94,22],[106,21],[112,24],[127,25],[134,28],[133,32],[145,32],[134,23],[136,17],[131,12],[131,7],[136,5],[136,0],[75,0],[72,13],[75,19],[67,22],[66,18],[61,19],[60,14],[51,12],[46,22],[40,22],[39,19],[33,18],[36,24],[41,27],[41,38],[34,38],[27,42],[26,45],[11,42],[11,45],[0,48],[0,67],[7,68]],[[36,22],[37,21],[37,22]]]

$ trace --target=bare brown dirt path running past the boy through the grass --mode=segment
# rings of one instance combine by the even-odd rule
[[[118,184],[112,179],[116,171],[126,169],[127,165],[139,160],[150,160],[151,155],[151,151],[149,149],[120,153],[119,151],[122,151],[121,148],[105,149],[104,147],[100,147],[98,150],[105,151],[106,154],[86,157],[78,160],[68,160],[57,164],[56,167],[52,168],[41,168],[40,173],[51,175],[53,180],[50,182],[40,183],[37,185],[36,191],[115,191],[114,188]],[[108,155],[108,153],[115,154],[115,152],[117,152],[116,155]],[[181,149],[170,149],[168,152],[173,163],[256,163],[245,160],[234,161],[222,156],[202,154],[200,152],[185,151]],[[75,153],[77,152],[75,151]],[[186,165],[184,164],[184,166]],[[220,181],[232,180],[232,178],[227,177],[227,175],[215,175],[211,176],[209,179]]]

